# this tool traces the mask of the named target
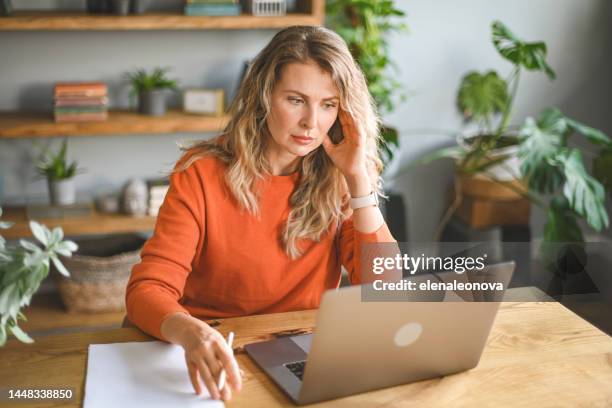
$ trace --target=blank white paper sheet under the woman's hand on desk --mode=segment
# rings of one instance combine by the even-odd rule
[[[92,344],[84,408],[223,407],[193,390],[181,347],[159,341]]]

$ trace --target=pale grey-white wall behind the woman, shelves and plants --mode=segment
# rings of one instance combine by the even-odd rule
[[[84,2],[22,0],[20,8],[78,5]],[[157,1],[156,8],[168,2]],[[174,1],[172,4],[180,4]],[[472,69],[510,65],[495,52],[490,23],[501,19],[528,40],[544,40],[558,78],[526,74],[519,89],[514,122],[556,105],[568,115],[612,134],[612,3],[608,0],[400,0],[410,33],[391,38],[391,54],[409,100],[386,116],[400,129],[402,150],[389,174],[419,155],[452,142],[434,129],[460,129],[454,109],[456,87]],[[50,109],[53,84],[102,80],[111,105],[127,106],[122,74],[136,67],[172,66],[182,86],[235,89],[242,62],[254,56],[274,31],[0,32],[0,110]],[[209,135],[179,134],[71,138],[70,154],[86,173],[80,191],[118,188],[130,177],[152,177],[177,158],[175,142]],[[33,181],[33,159],[43,139],[0,140],[3,203],[46,196]],[[57,139],[56,139],[57,142]],[[405,194],[409,237],[427,241],[445,208],[450,163],[402,171],[389,185]],[[540,217],[535,217],[538,224]]]

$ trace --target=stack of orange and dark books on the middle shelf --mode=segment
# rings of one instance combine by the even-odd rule
[[[108,88],[103,82],[55,84],[56,122],[94,122],[108,118]]]

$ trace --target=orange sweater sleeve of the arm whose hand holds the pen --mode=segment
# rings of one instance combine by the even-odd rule
[[[153,236],[141,252],[126,289],[128,318],[144,332],[162,338],[162,321],[188,311],[179,303],[199,243],[204,239],[204,188],[190,166],[170,176]]]

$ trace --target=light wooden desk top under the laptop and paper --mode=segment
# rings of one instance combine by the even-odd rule
[[[227,405],[292,406],[244,353],[242,346],[270,338],[279,331],[311,329],[315,311],[220,322],[217,328],[221,333],[226,335],[230,330],[236,333],[235,352],[245,371],[243,391]],[[72,387],[76,393],[72,404],[18,406],[77,407],[83,398],[89,344],[149,339],[135,329],[116,329],[43,337],[33,345],[11,340],[0,349],[0,387]],[[504,303],[476,368],[324,404],[333,407],[610,407],[612,339],[558,303]]]

